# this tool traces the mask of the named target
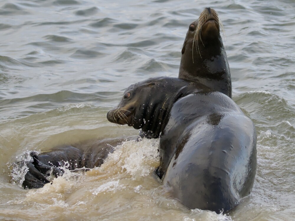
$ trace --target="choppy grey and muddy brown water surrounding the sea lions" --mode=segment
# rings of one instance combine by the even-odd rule
[[[131,83],[178,76],[190,22],[217,10],[233,100],[256,125],[253,192],[228,215],[187,210],[153,174],[158,141],[42,189],[12,183],[30,150],[136,135],[106,120]],[[1,220],[294,220],[295,1],[0,1]],[[16,178],[17,179],[17,178]]]

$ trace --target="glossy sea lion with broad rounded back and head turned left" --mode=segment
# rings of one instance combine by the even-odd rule
[[[227,95],[196,82],[151,78],[127,88],[107,118],[160,137],[158,175],[189,209],[227,212],[250,194],[256,131]]]

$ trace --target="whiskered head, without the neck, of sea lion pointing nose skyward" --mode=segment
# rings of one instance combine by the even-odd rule
[[[218,13],[212,8],[205,8],[199,19],[189,25],[181,50],[182,55],[186,53],[194,63],[198,58],[210,58],[214,54],[219,54],[216,49],[223,48],[220,28],[224,33]]]

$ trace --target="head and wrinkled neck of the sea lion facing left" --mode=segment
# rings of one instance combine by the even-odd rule
[[[122,100],[107,113],[107,119],[116,124],[127,124],[149,132],[149,138],[158,138],[168,121],[173,103],[184,96],[191,85],[184,80],[157,77],[128,87]]]

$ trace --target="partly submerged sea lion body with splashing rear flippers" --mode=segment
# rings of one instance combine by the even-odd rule
[[[80,144],[55,147],[39,155],[32,151],[30,153],[32,162],[27,164],[28,171],[24,176],[22,186],[25,189],[41,188],[50,182],[47,179],[50,173],[55,177],[62,176],[64,171],[60,167],[64,166],[69,170],[99,167],[104,163],[108,154],[114,151],[113,146],[130,139],[133,138],[88,140]],[[22,161],[18,164],[22,164]]]

